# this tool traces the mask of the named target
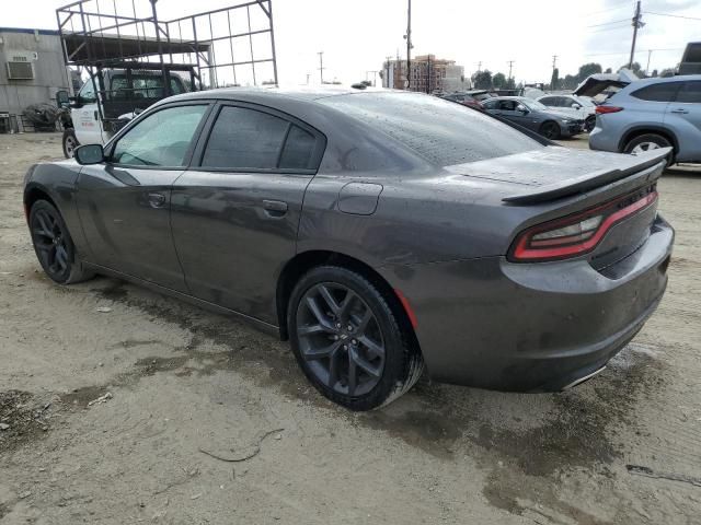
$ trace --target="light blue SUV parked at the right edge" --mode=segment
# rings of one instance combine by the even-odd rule
[[[701,74],[631,82],[596,108],[593,150],[674,148],[670,162],[701,163]]]

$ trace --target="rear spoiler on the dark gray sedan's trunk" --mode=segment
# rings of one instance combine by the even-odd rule
[[[658,148],[656,150],[646,151],[645,153],[635,155],[634,165],[623,170],[601,170],[599,172],[587,173],[577,178],[570,178],[562,183],[548,184],[544,186],[533,187],[530,191],[524,194],[504,197],[502,200],[509,205],[536,205],[547,202],[549,200],[562,199],[573,195],[588,191],[589,189],[599,188],[607,184],[625,178],[634,173],[640,173],[650,167],[656,166],[664,162],[671,154],[671,148]]]

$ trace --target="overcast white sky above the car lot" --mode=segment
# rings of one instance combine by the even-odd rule
[[[67,0],[0,2],[0,26],[56,28],[55,9]],[[159,0],[158,8],[160,19],[168,20],[234,3],[241,1]],[[634,3],[412,0],[412,54],[456,60],[466,75],[479,62],[482,69],[508,73],[513,60],[517,82],[548,82],[553,55],[561,77],[589,61],[616,70],[628,62]],[[273,0],[280,83],[303,84],[308,75],[310,83],[318,83],[319,51],[324,52],[324,80],[372,80],[372,71],[382,69],[387,57],[406,57],[406,4],[407,0]],[[645,26],[639,31],[635,59],[643,69],[648,58],[651,71],[674,67],[688,42],[701,42],[701,0],[643,0],[642,10]]]

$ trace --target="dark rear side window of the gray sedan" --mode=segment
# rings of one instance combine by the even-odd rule
[[[203,167],[312,170],[317,138],[284,118],[225,106],[211,129]]]

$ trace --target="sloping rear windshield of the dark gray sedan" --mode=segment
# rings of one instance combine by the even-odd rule
[[[318,102],[384,131],[440,166],[543,148],[487,115],[435,96],[357,93]]]

